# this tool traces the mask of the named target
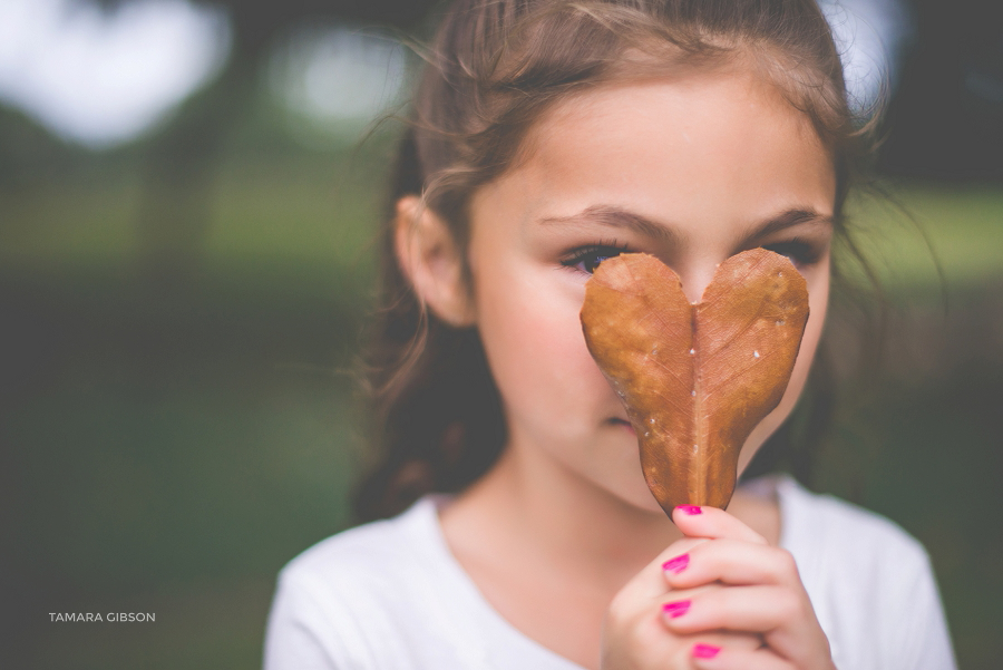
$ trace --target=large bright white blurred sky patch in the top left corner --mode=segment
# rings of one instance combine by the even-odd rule
[[[228,47],[225,14],[186,0],[0,0],[0,98],[66,139],[113,146],[211,79]]]

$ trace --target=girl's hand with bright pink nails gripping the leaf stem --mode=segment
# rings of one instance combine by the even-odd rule
[[[835,670],[791,555],[714,507],[678,507],[686,535],[606,613],[604,670]]]

